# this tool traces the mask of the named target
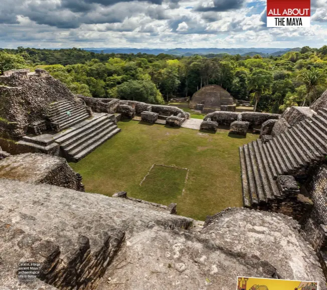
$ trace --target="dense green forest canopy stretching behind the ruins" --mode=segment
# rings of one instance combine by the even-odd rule
[[[208,84],[222,86],[257,111],[309,106],[327,89],[327,46],[281,57],[96,54],[82,49],[0,49],[0,74],[43,68],[75,94],[163,104]]]

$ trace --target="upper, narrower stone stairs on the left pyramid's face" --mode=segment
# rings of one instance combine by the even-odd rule
[[[80,103],[61,100],[49,105],[46,117],[56,131],[61,131],[89,118],[90,113]]]

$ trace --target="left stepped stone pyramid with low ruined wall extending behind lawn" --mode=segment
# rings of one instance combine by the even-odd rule
[[[132,119],[146,111],[152,116],[146,122],[174,127],[190,117],[173,106],[73,95],[41,69],[5,72],[0,76],[0,101],[0,146],[5,151],[45,153],[72,162],[119,133],[121,117]]]

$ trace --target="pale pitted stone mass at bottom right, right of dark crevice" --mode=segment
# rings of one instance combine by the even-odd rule
[[[198,234],[181,234],[178,230],[171,235],[166,231],[157,234],[155,228],[143,234],[135,233],[133,238],[127,239],[130,246],[119,251],[117,259],[109,266],[99,290],[117,281],[124,283],[124,290],[231,290],[236,287],[232,281],[239,272],[247,276],[255,272],[260,277],[287,279],[304,274],[324,280],[315,253],[298,233],[299,225],[294,220],[246,209],[228,210],[218,215]],[[299,261],[295,264],[285,263],[285,260],[297,258]],[[118,263],[124,259],[128,263],[121,267]],[[294,271],[297,266],[299,271]],[[162,272],[167,275],[162,277]],[[157,273],[158,277],[149,278],[147,273]],[[109,283],[106,282],[108,277]],[[206,285],[208,280],[211,284]]]

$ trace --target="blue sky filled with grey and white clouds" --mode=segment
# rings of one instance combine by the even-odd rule
[[[0,0],[0,48],[325,44],[327,0],[311,0],[310,28],[267,28],[266,0]]]

